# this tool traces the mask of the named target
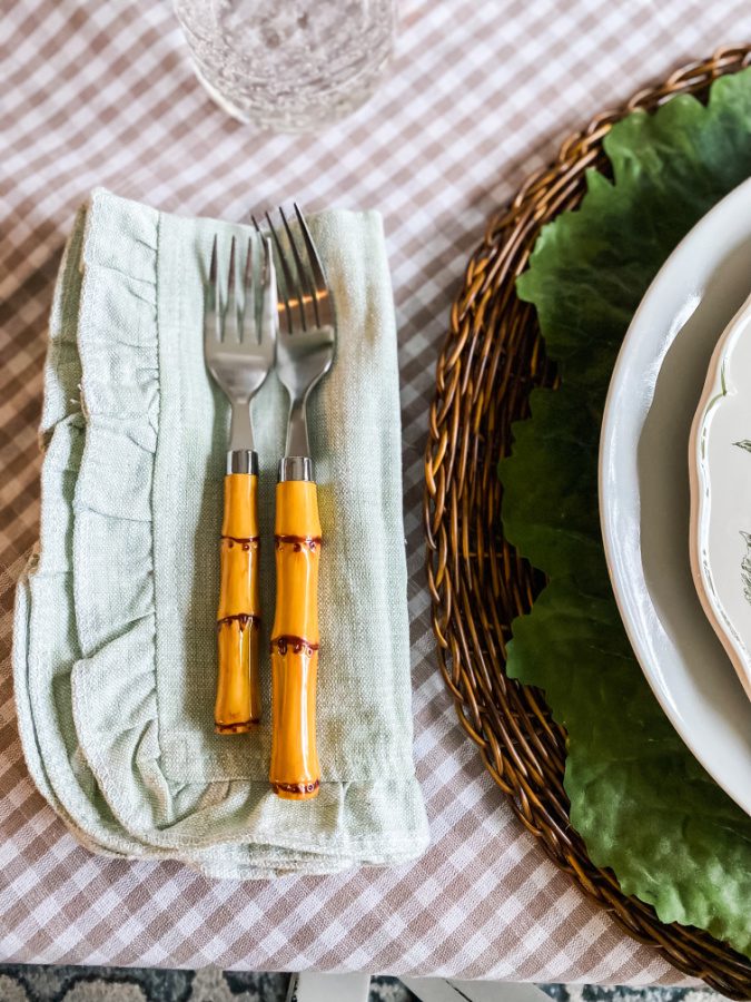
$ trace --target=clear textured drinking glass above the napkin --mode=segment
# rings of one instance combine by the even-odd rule
[[[328,125],[370,97],[394,47],[394,0],[175,0],[196,72],[243,121]]]

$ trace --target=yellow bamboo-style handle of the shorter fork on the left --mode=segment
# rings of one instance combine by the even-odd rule
[[[214,709],[218,734],[241,734],[260,720],[257,490],[258,478],[253,473],[225,477]]]

